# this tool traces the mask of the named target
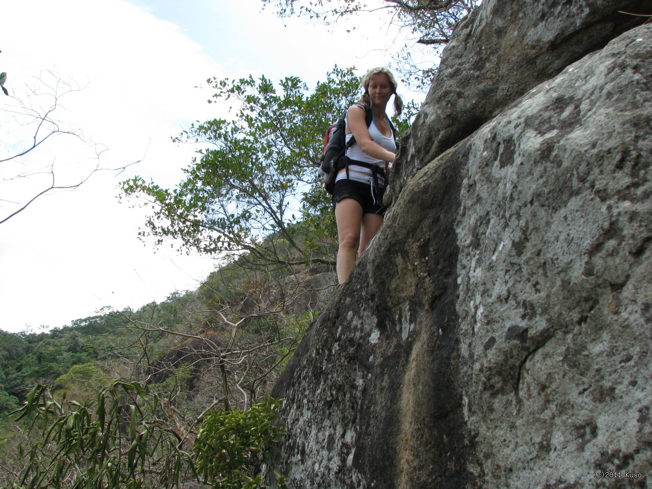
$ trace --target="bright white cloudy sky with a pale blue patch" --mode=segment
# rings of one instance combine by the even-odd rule
[[[296,75],[314,86],[334,65],[359,74],[389,65],[396,33],[370,17],[351,22],[327,29],[281,20],[272,8],[261,11],[260,0],[5,2],[0,72],[11,96],[0,94],[0,159],[33,137],[35,126],[21,125],[16,106],[20,99],[50,107],[51,97],[28,95],[52,93],[50,72],[79,88],[59,87],[53,116],[95,146],[59,136],[0,163],[0,219],[48,181],[12,179],[22,170],[53,164],[57,183],[76,183],[98,163],[126,168],[96,172],[0,224],[0,329],[48,331],[103,308],[136,309],[196,289],[218,261],[140,241],[145,210],[118,201],[119,183],[135,175],[166,187],[181,181],[196,148],[171,136],[228,116],[225,105],[207,104],[208,78]]]

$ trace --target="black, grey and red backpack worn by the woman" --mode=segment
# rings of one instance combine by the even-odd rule
[[[361,106],[363,107],[363,106]],[[369,127],[374,119],[374,112],[371,108],[364,108],[364,121],[366,122],[367,127]],[[392,125],[389,118],[389,128],[394,134],[394,126]],[[338,171],[342,168],[348,169],[349,159],[346,158],[346,149],[353,146],[355,143],[355,136],[351,136],[348,142],[346,142],[346,112],[340,120],[337,121],[334,125],[331,125],[326,134],[324,135],[324,151],[321,156],[319,168],[317,169],[319,176],[324,182],[326,191],[329,194],[333,194],[335,188],[335,177],[337,176]],[[394,141],[396,141],[396,136],[394,135]],[[364,162],[355,162],[357,165],[365,166],[374,171],[374,178],[376,178],[376,170],[378,165],[369,165]],[[384,175],[385,171],[382,170],[381,174]]]

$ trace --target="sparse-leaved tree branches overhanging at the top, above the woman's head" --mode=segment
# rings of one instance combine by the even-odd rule
[[[376,13],[400,31],[407,31],[408,44],[394,55],[402,74],[402,82],[428,89],[436,74],[437,64],[420,63],[413,57],[417,45],[428,48],[430,59],[439,57],[451,38],[455,25],[482,0],[262,0],[263,7],[274,5],[280,17],[307,16],[331,25],[359,14]]]

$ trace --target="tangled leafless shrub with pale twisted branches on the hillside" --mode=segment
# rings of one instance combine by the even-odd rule
[[[170,398],[193,391],[193,401],[201,409],[206,404],[247,409],[254,403],[278,376],[298,336],[294,322],[283,312],[283,295],[292,290],[270,291],[264,282],[256,286],[248,301],[234,305],[224,304],[216,291],[206,310],[174,329],[134,324],[132,334],[159,333],[167,338],[160,355],[141,342],[141,358],[149,359],[141,367],[147,382],[156,383],[156,389]],[[241,304],[252,304],[251,310],[243,310]],[[198,390],[205,394],[198,395]]]

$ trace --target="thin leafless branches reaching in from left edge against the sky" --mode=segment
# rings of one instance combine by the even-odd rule
[[[106,148],[86,138],[79,127],[57,118],[62,102],[83,86],[48,71],[35,77],[31,85],[26,84],[25,89],[25,98],[8,96],[0,100],[0,125],[5,134],[0,147],[0,224],[46,194],[74,190],[98,171],[120,173],[130,166],[104,168],[100,158]],[[48,143],[59,138],[68,139],[66,151],[72,151],[73,142],[74,147],[83,149],[82,160],[32,158],[37,150],[45,151]],[[44,162],[45,157],[52,157],[52,161]]]

